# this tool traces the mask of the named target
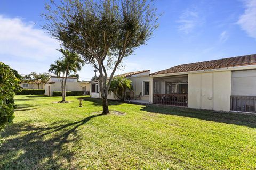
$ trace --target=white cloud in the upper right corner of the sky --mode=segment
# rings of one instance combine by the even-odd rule
[[[245,1],[244,14],[239,17],[237,24],[253,38],[256,38],[256,0]]]

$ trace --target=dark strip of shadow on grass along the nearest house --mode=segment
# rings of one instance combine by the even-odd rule
[[[148,105],[142,108],[143,111],[154,112],[167,115],[177,115],[191,118],[198,118],[206,121],[235,124],[256,128],[256,115],[239,114],[231,112],[214,112],[191,108],[179,108],[170,106]]]

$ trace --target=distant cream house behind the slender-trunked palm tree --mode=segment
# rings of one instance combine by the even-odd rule
[[[53,91],[62,91],[60,78],[57,76],[51,76],[45,83],[45,94],[52,96]],[[67,78],[67,91],[84,91],[84,94],[90,93],[89,82],[78,82],[76,77]]]

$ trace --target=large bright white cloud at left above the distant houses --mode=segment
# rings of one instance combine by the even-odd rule
[[[57,58],[57,40],[50,38],[35,23],[23,22],[20,18],[6,18],[0,15],[0,58],[12,56],[17,59],[45,61]]]

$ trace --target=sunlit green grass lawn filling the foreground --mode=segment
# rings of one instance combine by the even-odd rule
[[[15,96],[0,169],[256,169],[256,116]]]

